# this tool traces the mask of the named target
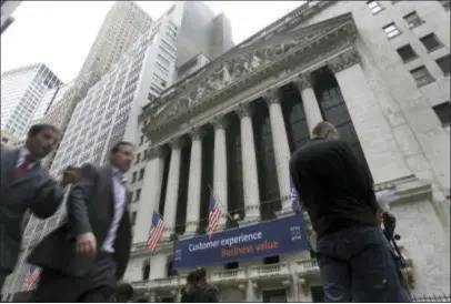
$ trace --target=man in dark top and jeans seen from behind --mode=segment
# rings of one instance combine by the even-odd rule
[[[290,173],[317,233],[325,302],[410,302],[378,226],[371,174],[332,124],[313,129]]]

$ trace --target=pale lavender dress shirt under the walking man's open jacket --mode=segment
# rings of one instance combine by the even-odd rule
[[[113,185],[113,196],[114,196],[114,216],[111,223],[110,230],[108,231],[107,239],[103,242],[102,250],[104,252],[114,252],[114,241],[116,233],[118,232],[119,224],[121,222],[122,215],[127,206],[127,180],[122,173],[112,168],[112,185]]]

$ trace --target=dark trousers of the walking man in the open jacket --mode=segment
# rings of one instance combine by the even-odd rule
[[[116,262],[111,254],[100,253],[91,271],[82,276],[42,270],[32,302],[112,302],[116,285]]]

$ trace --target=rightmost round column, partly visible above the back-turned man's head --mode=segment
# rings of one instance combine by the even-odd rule
[[[312,134],[313,128],[323,119],[320,110],[320,104],[318,103],[312,88],[311,75],[299,75],[293,82],[301,93],[307,126],[309,128],[310,134]]]

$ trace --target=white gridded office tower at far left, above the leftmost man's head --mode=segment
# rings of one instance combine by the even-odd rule
[[[43,63],[4,72],[1,75],[1,129],[18,139],[24,135],[44,94],[61,83]]]

